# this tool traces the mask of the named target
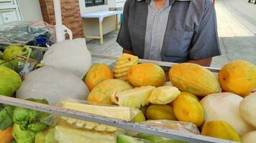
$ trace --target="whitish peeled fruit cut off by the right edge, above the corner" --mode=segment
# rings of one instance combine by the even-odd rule
[[[250,94],[242,100],[240,114],[245,122],[256,127],[256,94]]]

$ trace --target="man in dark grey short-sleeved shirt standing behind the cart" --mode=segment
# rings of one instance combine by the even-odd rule
[[[220,55],[210,0],[127,0],[116,41],[140,59],[210,66]]]

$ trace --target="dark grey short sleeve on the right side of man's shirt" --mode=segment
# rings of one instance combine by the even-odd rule
[[[206,59],[220,54],[216,12],[214,4],[207,0],[201,23],[193,34],[189,59]]]

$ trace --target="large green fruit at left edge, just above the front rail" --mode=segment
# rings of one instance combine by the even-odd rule
[[[12,69],[0,66],[0,95],[12,97],[22,85],[22,78]]]

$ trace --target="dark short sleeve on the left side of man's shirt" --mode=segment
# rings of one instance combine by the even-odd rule
[[[119,30],[119,34],[117,36],[116,42],[122,46],[124,49],[132,50],[132,43],[129,34],[128,28],[128,19],[129,19],[129,0],[127,0],[124,4],[124,12],[123,12],[123,21],[121,24],[121,28]]]

